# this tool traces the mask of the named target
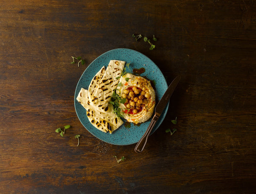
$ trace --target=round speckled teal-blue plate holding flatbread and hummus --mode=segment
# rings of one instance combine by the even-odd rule
[[[151,59],[149,59],[147,56],[143,55],[138,51],[134,51],[127,48],[117,48],[102,54],[97,59],[95,59],[82,74],[76,86],[75,100],[74,100],[76,114],[79,120],[81,121],[81,124],[83,124],[83,126],[92,135],[94,135],[96,138],[99,138],[102,141],[105,141],[107,143],[111,143],[114,145],[130,145],[133,143],[137,143],[140,140],[140,138],[143,136],[146,129],[148,128],[148,125],[151,119],[149,119],[145,123],[140,124],[140,126],[135,126],[134,124],[131,124],[130,128],[126,128],[124,124],[122,124],[122,126],[119,127],[119,129],[116,129],[116,131],[114,131],[112,134],[105,133],[93,127],[93,125],[90,123],[90,121],[87,118],[86,110],[76,100],[76,97],[78,96],[81,88],[83,87],[84,89],[88,89],[89,84],[93,79],[93,77],[95,76],[95,74],[103,66],[107,67],[110,60],[114,60],[114,59],[125,61],[126,63],[130,63],[129,67],[131,71],[134,68],[140,69],[144,67],[145,72],[142,73],[140,76],[146,76],[148,79],[154,80],[157,101],[159,101],[160,98],[163,96],[168,86],[163,76],[163,73],[160,71],[157,65],[155,65],[154,62],[151,61]],[[126,72],[130,73],[128,68],[126,69]],[[169,107],[169,103],[167,104],[165,110],[163,111],[162,115],[158,119],[156,125],[152,129],[151,134],[163,122],[163,119],[166,116],[168,107]]]

